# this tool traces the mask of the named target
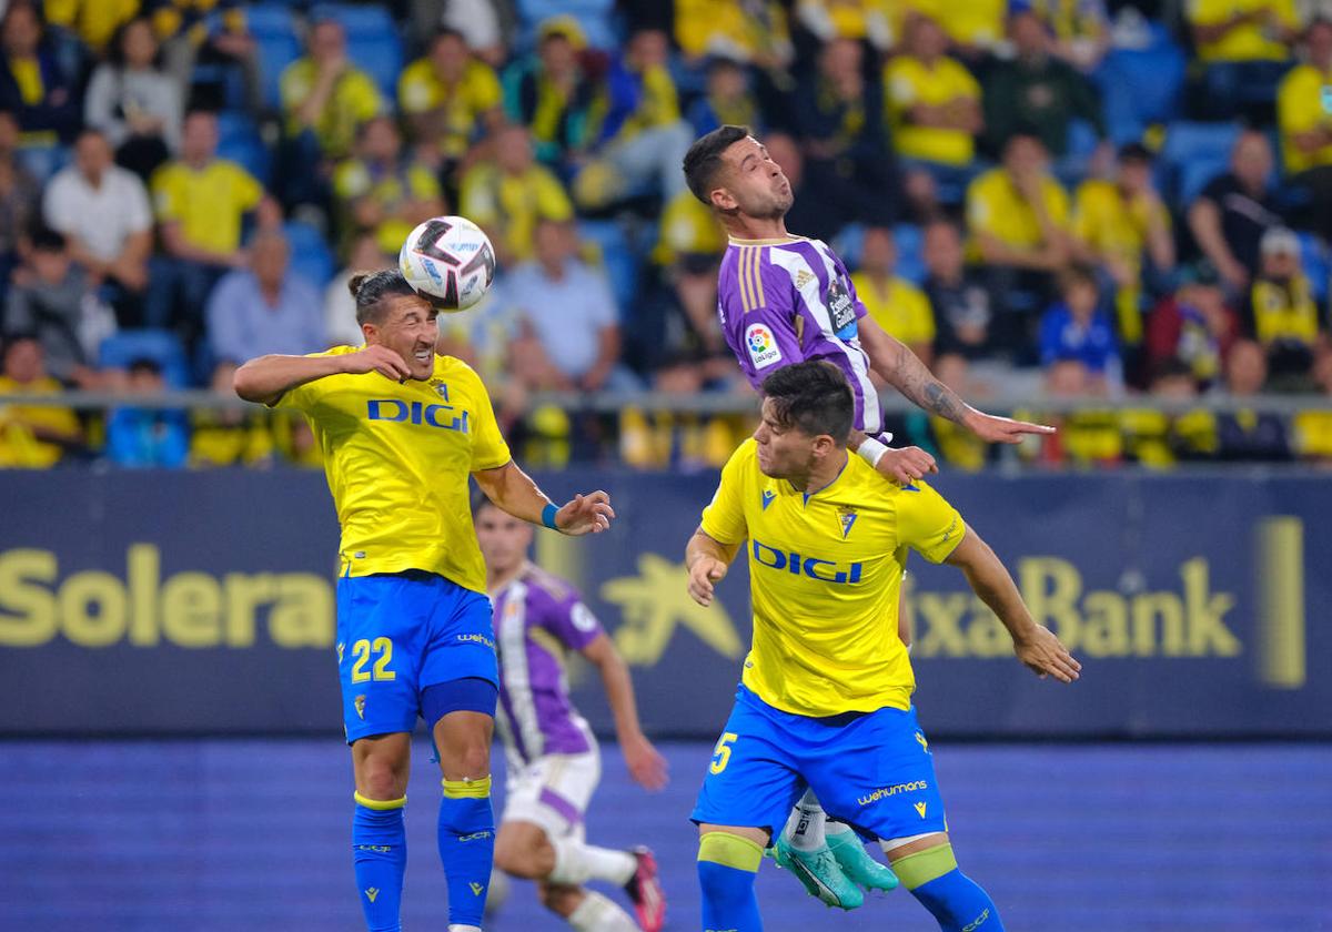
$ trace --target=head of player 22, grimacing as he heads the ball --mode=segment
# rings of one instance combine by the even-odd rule
[[[354,274],[348,289],[356,298],[356,321],[365,344],[377,344],[401,355],[412,378],[430,378],[434,345],[440,338],[436,321],[440,310],[417,294],[397,269]]]

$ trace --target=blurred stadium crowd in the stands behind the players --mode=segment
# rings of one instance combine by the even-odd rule
[[[346,281],[460,213],[500,276],[441,321],[526,462],[715,466],[738,415],[533,393],[738,390],[693,138],[749,125],[868,312],[1038,463],[1332,462],[1332,19],[1296,0],[8,0],[0,466],[316,465],[302,422],[159,410],[264,353],[358,342]],[[1329,11],[1332,12],[1332,11]],[[956,467],[994,450],[890,425]]]

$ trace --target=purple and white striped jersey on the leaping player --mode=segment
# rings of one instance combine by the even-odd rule
[[[851,383],[855,426],[883,430],[870,358],[860,349],[866,316],[851,276],[822,240],[731,240],[717,282],[717,313],[726,342],[750,385],[762,390],[777,369],[827,359]]]

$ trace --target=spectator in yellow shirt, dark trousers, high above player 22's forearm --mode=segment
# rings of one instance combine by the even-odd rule
[[[284,201],[324,205],[333,164],[350,153],[356,128],[385,107],[380,91],[348,59],[342,24],[318,20],[306,56],[282,72],[280,93],[286,117]]]

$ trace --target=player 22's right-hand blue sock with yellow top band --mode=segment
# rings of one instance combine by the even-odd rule
[[[440,803],[440,860],[449,884],[449,923],[481,925],[496,853],[490,778],[445,780]]]

